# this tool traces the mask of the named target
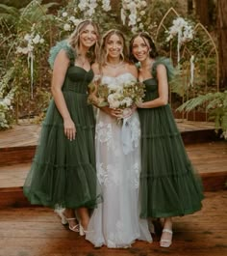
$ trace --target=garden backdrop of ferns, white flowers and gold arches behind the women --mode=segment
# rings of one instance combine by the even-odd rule
[[[1,1],[0,129],[42,121],[51,99],[49,50],[91,18],[101,33],[117,28],[127,41],[149,32],[176,68],[169,94],[176,118],[213,120],[226,138],[226,14],[225,0]]]

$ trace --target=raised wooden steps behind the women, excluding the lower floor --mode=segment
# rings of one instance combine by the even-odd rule
[[[198,143],[198,137],[209,134],[207,131],[214,133],[213,123],[178,121],[177,125],[183,139],[187,133],[190,143],[186,143],[186,150],[202,177],[204,189],[223,189],[227,181],[227,142],[207,137],[207,142]],[[23,124],[0,132],[0,209],[30,205],[22,186],[36,151],[39,131],[38,125]]]

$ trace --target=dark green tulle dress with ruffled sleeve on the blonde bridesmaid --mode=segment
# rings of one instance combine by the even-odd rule
[[[65,137],[63,118],[55,101],[51,100],[23,191],[32,204],[92,209],[101,199],[95,169],[95,120],[92,106],[87,102],[93,72],[74,66],[75,55],[66,43],[58,43],[52,49],[52,67],[61,48],[70,60],[62,91],[76,126],[76,139],[70,141]]]

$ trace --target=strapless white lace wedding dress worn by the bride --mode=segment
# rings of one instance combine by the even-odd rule
[[[129,72],[103,76],[114,85],[136,80]],[[96,120],[96,166],[103,203],[91,215],[86,239],[94,246],[130,247],[136,240],[152,242],[146,219],[139,218],[140,128],[137,111],[122,124],[99,110]]]

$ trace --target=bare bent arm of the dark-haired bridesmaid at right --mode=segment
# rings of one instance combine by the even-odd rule
[[[167,72],[163,64],[157,67],[157,80],[159,87],[159,97],[155,100],[137,103],[140,108],[154,108],[166,105],[168,103],[168,81]]]

